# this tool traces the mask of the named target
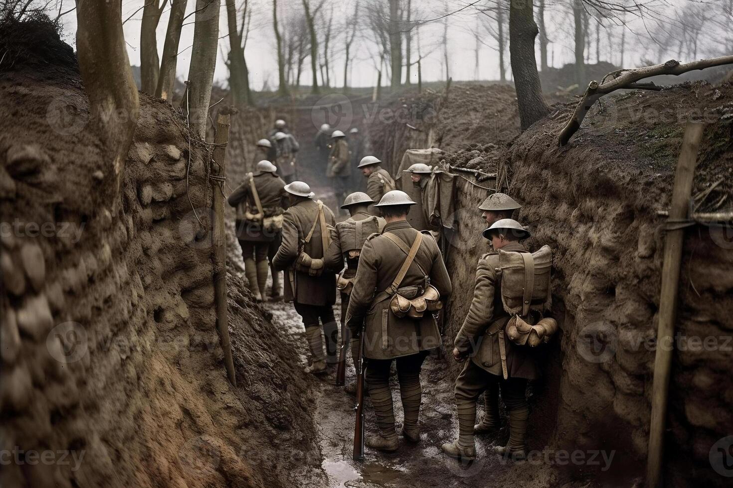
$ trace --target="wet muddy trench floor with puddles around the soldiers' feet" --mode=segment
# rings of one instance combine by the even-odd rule
[[[270,282],[268,282],[268,292]],[[300,316],[292,304],[284,301],[268,301],[263,304],[273,314],[273,322],[282,331],[292,334],[300,348],[303,367],[307,364],[306,337]],[[339,320],[340,304],[334,306]],[[329,367],[328,375],[317,380],[314,392],[314,419],[317,424],[318,442],[323,461],[322,473],[292,480],[303,488],[369,488],[369,487],[550,487],[553,476],[546,466],[515,464],[496,454],[487,454],[487,448],[503,443],[506,428],[496,435],[477,437],[477,459],[471,465],[460,465],[446,457],[440,450],[441,443],[457,438],[457,418],[453,399],[453,382],[446,361],[433,351],[426,359],[421,373],[423,388],[420,408],[421,440],[417,444],[406,443],[400,436],[399,450],[386,454],[365,448],[362,463],[352,459],[355,398],[342,386],[335,386],[336,367]],[[346,382],[356,378],[350,355],[347,359]],[[397,432],[401,429],[402,405],[399,386],[394,372],[391,378],[392,398]],[[481,402],[479,402],[480,404]],[[375,418],[369,397],[366,398],[365,415],[367,437],[374,435]],[[482,408],[479,407],[479,418]],[[323,484],[323,479],[327,483]],[[300,476],[299,476],[300,477]],[[317,481],[315,481],[317,480]]]

